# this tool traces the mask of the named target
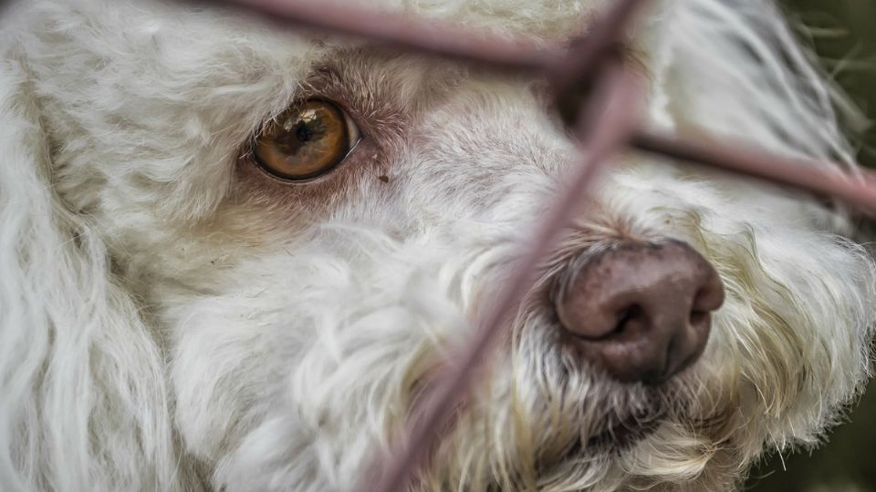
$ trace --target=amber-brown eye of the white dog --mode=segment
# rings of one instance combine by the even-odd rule
[[[256,162],[280,179],[313,179],[344,160],[359,128],[337,105],[309,99],[269,121],[256,135]]]

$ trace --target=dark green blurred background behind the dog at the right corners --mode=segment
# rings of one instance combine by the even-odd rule
[[[758,0],[752,0],[758,1]],[[876,0],[779,0],[821,67],[868,120],[876,120]],[[876,168],[876,125],[853,139],[860,162]],[[876,231],[876,228],[870,228]],[[876,235],[871,234],[871,241]],[[876,382],[852,407],[850,422],[818,450],[770,456],[746,483],[755,492],[876,492]]]

